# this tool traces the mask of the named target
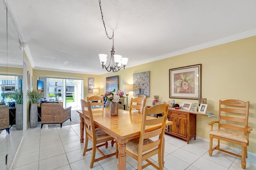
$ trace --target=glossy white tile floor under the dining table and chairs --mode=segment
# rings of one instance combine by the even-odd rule
[[[192,138],[190,144],[165,134],[164,170],[240,170],[241,159],[215,150],[208,155],[209,142]],[[228,146],[226,146],[228,147]],[[82,156],[84,143],[80,143],[80,125],[62,128],[24,130],[24,140],[14,162],[13,170],[89,170],[91,153]],[[114,152],[110,145],[104,152]],[[248,153],[247,170],[256,170],[256,154]],[[152,156],[157,161],[157,156]],[[116,170],[115,156],[95,162],[92,170]],[[137,162],[127,157],[126,170],[137,168]],[[145,170],[153,170],[148,166]]]

